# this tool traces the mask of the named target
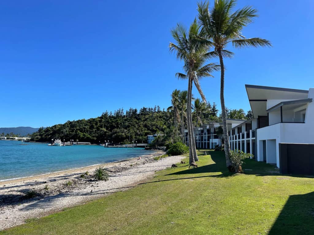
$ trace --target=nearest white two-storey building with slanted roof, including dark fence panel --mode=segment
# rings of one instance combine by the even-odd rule
[[[314,174],[314,89],[245,87],[253,118],[229,132],[231,150],[251,153],[282,173]]]

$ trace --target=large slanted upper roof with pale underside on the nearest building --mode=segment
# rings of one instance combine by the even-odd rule
[[[254,118],[267,116],[267,100],[300,100],[308,98],[308,90],[272,86],[245,85]]]

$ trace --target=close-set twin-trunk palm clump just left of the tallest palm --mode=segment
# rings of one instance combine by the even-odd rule
[[[203,101],[206,103],[206,98],[203,94],[199,80],[203,77],[212,76],[210,73],[213,70],[219,69],[214,63],[206,64],[208,43],[206,41],[201,42],[198,37],[205,35],[200,31],[196,19],[190,25],[189,31],[181,25],[177,24],[176,28],[171,30],[172,37],[176,40],[176,44],[170,42],[169,48],[171,52],[174,52],[178,60],[184,61],[183,70],[186,74],[176,73],[176,77],[179,79],[188,80],[187,88],[187,131],[189,141],[189,162],[195,162],[198,160],[196,154],[195,141],[193,138],[193,123],[191,114],[192,105],[192,86],[193,82],[198,92],[200,93]]]

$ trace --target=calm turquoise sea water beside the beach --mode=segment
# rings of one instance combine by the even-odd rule
[[[0,140],[0,180],[40,175],[151,154],[142,148],[104,148],[98,145],[48,146]]]

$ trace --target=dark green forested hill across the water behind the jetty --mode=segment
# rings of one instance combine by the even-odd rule
[[[170,129],[170,112],[154,108],[143,107],[139,110],[130,108],[124,112],[123,108],[114,113],[104,112],[100,117],[67,121],[52,127],[40,128],[32,134],[32,140],[47,141],[60,138],[68,141],[78,139],[92,143],[146,142],[148,134],[165,133]]]

